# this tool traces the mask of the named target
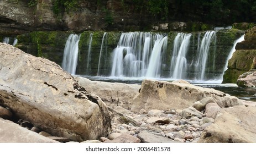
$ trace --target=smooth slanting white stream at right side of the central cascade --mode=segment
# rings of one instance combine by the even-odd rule
[[[153,47],[149,66],[146,73],[146,77],[148,78],[160,78],[160,68],[161,68],[161,51],[166,50],[168,37],[165,36],[155,41],[155,45]]]

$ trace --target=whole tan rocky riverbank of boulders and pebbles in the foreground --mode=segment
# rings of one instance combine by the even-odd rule
[[[0,142],[256,142],[255,102],[182,80],[74,78],[5,43],[0,57]]]

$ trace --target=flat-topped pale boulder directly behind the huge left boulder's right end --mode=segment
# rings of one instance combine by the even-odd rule
[[[91,81],[81,76],[76,76],[78,83],[88,92],[100,96],[108,106],[122,106],[130,109],[131,102],[140,89],[137,84],[107,83],[103,81]]]

